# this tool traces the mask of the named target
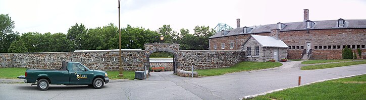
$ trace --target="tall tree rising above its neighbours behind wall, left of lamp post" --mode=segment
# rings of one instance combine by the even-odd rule
[[[81,42],[80,42],[80,38],[76,38],[79,34],[84,34],[87,32],[85,26],[83,24],[78,24],[76,23],[74,26],[72,26],[71,28],[69,28],[69,30],[67,31],[67,38],[74,42],[74,49],[75,50],[81,50]]]

